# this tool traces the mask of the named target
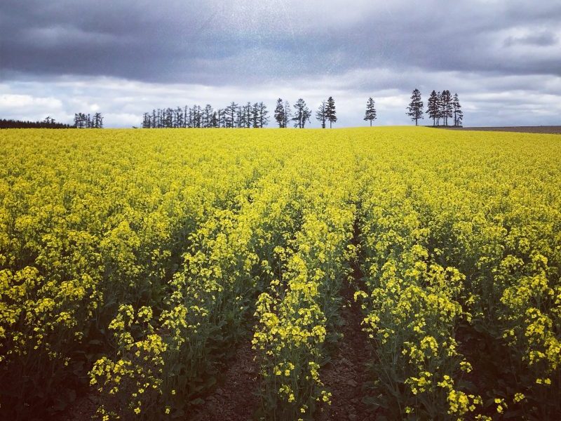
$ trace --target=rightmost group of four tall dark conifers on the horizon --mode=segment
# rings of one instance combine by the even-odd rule
[[[438,93],[433,90],[428,97],[426,112],[424,112],[421,91],[414,89],[411,102],[407,106],[407,115],[415,122],[415,126],[418,126],[419,120],[424,119],[425,113],[428,114],[429,119],[433,119],[433,126],[450,126],[449,119],[452,119],[454,127],[459,127],[464,121],[464,112],[461,111],[458,94],[454,93],[452,96],[448,90]]]

